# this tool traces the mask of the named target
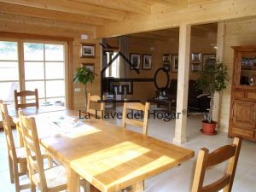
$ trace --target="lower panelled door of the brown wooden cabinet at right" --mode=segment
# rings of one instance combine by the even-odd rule
[[[241,128],[255,127],[255,104],[254,102],[233,102],[233,124]]]

